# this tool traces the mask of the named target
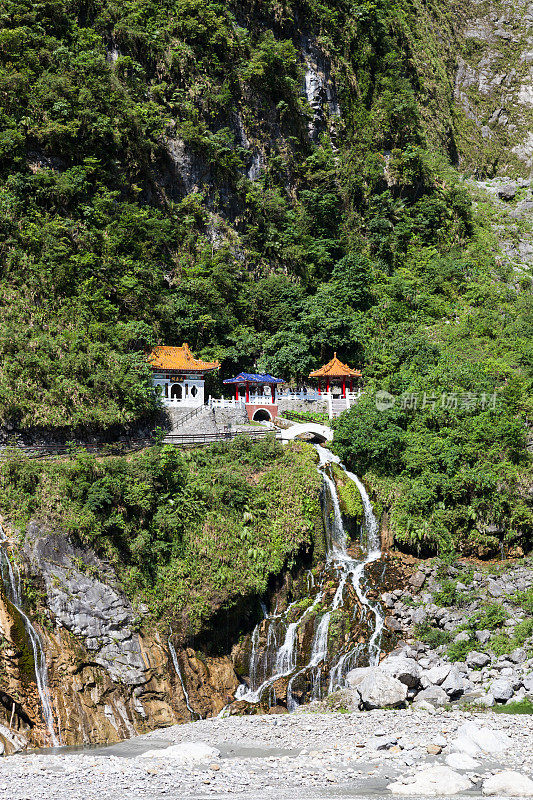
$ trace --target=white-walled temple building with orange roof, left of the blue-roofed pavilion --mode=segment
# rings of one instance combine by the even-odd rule
[[[218,369],[218,361],[195,358],[188,344],[155,347],[148,357],[156,392],[165,406],[204,405],[204,375]]]

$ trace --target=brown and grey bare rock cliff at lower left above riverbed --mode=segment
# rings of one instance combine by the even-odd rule
[[[63,744],[113,742],[217,714],[238,685],[229,659],[204,657],[146,622],[95,553],[32,523],[24,571],[37,590],[32,615],[44,644],[55,730]],[[37,619],[40,618],[39,624]],[[16,611],[0,598],[0,728],[8,750],[49,744],[34,664]],[[185,694],[187,693],[187,696]],[[13,736],[18,730],[21,737]],[[23,738],[22,738],[23,737]]]

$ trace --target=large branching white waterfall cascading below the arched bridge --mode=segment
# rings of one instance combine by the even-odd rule
[[[353,473],[345,469],[340,459],[324,447],[317,447],[319,454],[318,470],[323,476],[327,497],[331,504],[331,515],[325,510],[326,525],[326,563],[323,574],[320,576],[317,590],[312,603],[294,619],[292,611],[295,602],[287,609],[278,613],[267,615],[254,629],[251,636],[251,651],[249,657],[248,679],[249,685],[241,684],[235,694],[235,699],[248,703],[257,703],[269,698],[273,684],[283,678],[288,678],[287,683],[287,708],[294,710],[298,703],[294,697],[294,687],[298,679],[304,681],[310,698],[319,698],[323,688],[329,693],[343,686],[344,677],[350,669],[357,666],[360,659],[368,659],[368,663],[376,664],[379,661],[380,641],[383,631],[383,615],[377,604],[371,603],[366,594],[366,567],[381,557],[379,525],[375,518],[370,498],[363,483]],[[340,500],[335,481],[329,473],[330,465],[337,464],[345,476],[353,481],[361,495],[363,505],[363,530],[362,543],[366,543],[366,554],[359,559],[353,558],[347,550],[348,535],[344,528]],[[335,581],[333,596],[326,593],[326,585]],[[311,579],[310,579],[311,577]],[[307,574],[308,591],[315,586],[312,573]],[[345,593],[351,587],[358,606],[354,613],[359,612],[358,622],[369,626],[369,637],[365,644],[358,642],[341,646],[338,652],[330,652],[329,631],[332,614],[345,606]],[[321,617],[313,635],[312,644],[307,656],[299,647],[299,631],[303,624],[308,622],[310,614],[315,608],[325,601],[326,610],[321,612]],[[291,621],[292,618],[292,621]],[[315,623],[316,624],[316,623]],[[266,644],[260,645],[260,633],[266,633]],[[278,644],[281,642],[281,644]],[[333,648],[331,648],[333,650]],[[263,669],[259,669],[262,665]]]

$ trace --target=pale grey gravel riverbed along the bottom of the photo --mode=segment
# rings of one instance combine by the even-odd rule
[[[420,797],[420,789],[410,794],[409,786],[415,784],[409,781],[427,767],[435,772],[439,765],[442,774],[437,769],[437,789],[426,796],[450,794],[448,769],[468,784],[456,794],[476,797],[482,795],[491,775],[501,770],[520,773],[526,783],[533,778],[531,716],[459,709],[352,714],[313,713],[311,709],[291,715],[203,720],[106,748],[6,757],[0,765],[0,798]],[[454,750],[457,757],[461,748],[454,742],[459,741],[465,723],[492,729],[507,744],[498,753],[477,753],[474,768],[466,764],[451,773],[446,758]],[[170,755],[143,755],[193,742],[214,747],[219,754],[196,763]],[[390,789],[390,784],[399,788]]]

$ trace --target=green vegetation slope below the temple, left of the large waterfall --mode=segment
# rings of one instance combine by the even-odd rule
[[[319,486],[313,448],[266,440],[0,462],[0,505],[15,525],[37,517],[94,547],[129,596],[183,636],[320,547]]]

